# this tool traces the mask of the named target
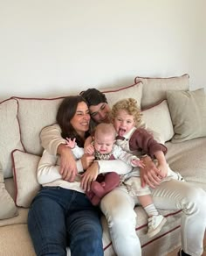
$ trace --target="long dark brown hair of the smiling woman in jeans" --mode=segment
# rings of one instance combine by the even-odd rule
[[[62,137],[64,139],[66,137],[71,139],[76,138],[76,142],[78,146],[84,146],[84,140],[75,131],[70,121],[76,113],[78,104],[81,102],[86,103],[86,100],[82,96],[65,97],[65,99],[62,101],[62,103],[60,103],[58,107],[58,113],[56,117],[57,123],[59,124],[62,131],[61,133]]]

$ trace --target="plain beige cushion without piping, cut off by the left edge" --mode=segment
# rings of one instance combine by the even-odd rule
[[[0,219],[15,216],[17,216],[17,207],[4,186],[3,170],[0,167]]]

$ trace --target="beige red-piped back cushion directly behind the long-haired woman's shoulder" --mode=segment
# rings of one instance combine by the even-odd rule
[[[41,155],[39,132],[47,125],[56,123],[58,105],[64,97],[20,98],[17,117],[21,127],[21,140],[26,152]],[[16,149],[15,147],[12,150]]]

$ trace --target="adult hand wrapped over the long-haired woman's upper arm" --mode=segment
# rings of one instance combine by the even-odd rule
[[[58,154],[60,154],[60,174],[62,179],[73,182],[78,171],[71,149],[61,144],[58,146]]]

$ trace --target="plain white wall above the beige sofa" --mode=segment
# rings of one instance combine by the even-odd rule
[[[0,0],[0,98],[189,73],[206,89],[204,0]]]

